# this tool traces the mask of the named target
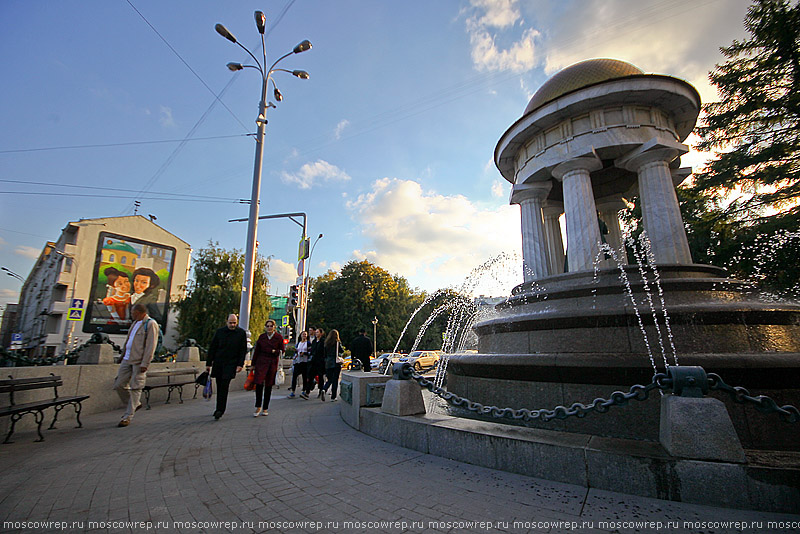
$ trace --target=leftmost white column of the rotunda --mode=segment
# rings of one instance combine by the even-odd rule
[[[551,182],[517,184],[511,204],[519,204],[522,220],[522,275],[528,282],[550,275],[547,244],[542,222],[542,201],[553,187]]]

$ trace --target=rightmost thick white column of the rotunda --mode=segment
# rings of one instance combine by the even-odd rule
[[[637,149],[618,160],[625,168],[639,175],[642,224],[650,238],[657,264],[692,263],[689,241],[686,239],[686,229],[669,168],[669,163],[684,152],[684,145],[655,145],[649,150]]]

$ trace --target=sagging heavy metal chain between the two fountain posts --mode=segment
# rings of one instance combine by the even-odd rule
[[[556,406],[552,410],[539,409],[528,410],[521,408],[515,410],[513,408],[498,408],[496,406],[484,406],[479,402],[473,402],[464,397],[459,397],[455,393],[451,393],[442,389],[430,380],[424,378],[421,374],[417,373],[411,366],[409,366],[407,373],[410,371],[410,378],[413,378],[417,383],[426,388],[428,391],[437,395],[455,406],[466,408],[469,411],[476,412],[481,415],[489,415],[491,417],[510,417],[511,419],[532,421],[540,419],[542,421],[550,421],[551,419],[566,419],[567,417],[575,416],[578,418],[586,417],[592,411],[598,413],[606,413],[612,406],[624,406],[629,400],[645,401],[650,396],[650,392],[654,389],[667,390],[672,388],[672,379],[664,373],[658,373],[653,376],[653,381],[646,386],[634,385],[628,393],[622,391],[615,391],[611,394],[609,399],[597,398],[591,404],[582,404],[576,402],[569,408],[566,406]]]

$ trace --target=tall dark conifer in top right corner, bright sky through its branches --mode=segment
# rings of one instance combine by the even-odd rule
[[[698,148],[717,158],[696,175],[707,198],[741,194],[719,213],[751,230],[796,227],[800,215],[800,6],[756,0],[750,37],[721,48],[729,60],[710,74],[721,100],[704,106]]]

